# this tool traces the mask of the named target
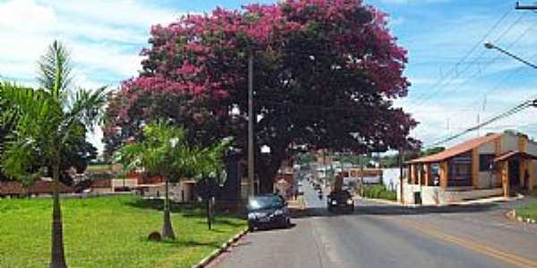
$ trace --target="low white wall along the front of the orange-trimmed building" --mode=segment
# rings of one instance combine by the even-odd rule
[[[488,189],[465,189],[465,188],[440,188],[439,186],[420,186],[416,184],[404,184],[403,197],[405,204],[415,204],[414,193],[419,192],[422,197],[422,205],[446,205],[465,200],[480,199],[485,197],[500,196],[502,188]],[[401,202],[401,191],[397,186],[397,201]]]

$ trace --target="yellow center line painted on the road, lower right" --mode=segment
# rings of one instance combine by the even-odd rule
[[[418,226],[415,226],[416,221],[413,221],[413,220],[407,220],[407,219],[398,219],[398,220],[403,222],[405,226],[412,227],[414,230],[422,231],[423,233],[428,234],[433,238],[451,242],[453,244],[456,244],[462,247],[466,247],[468,249],[482,253],[484,255],[489,255],[491,257],[502,260],[508,264],[514,264],[518,267],[524,267],[524,268],[537,268],[537,262],[524,258],[522,256],[508,253],[508,252],[499,250],[498,248],[495,248],[495,247],[489,247],[481,243],[472,241],[471,239],[462,239],[462,238],[447,234],[439,230],[433,230],[431,228],[424,227],[423,225],[420,225],[418,227]],[[422,224],[422,222],[420,223]]]

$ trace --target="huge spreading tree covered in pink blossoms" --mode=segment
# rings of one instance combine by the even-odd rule
[[[360,0],[288,0],[155,26],[140,75],[108,106],[107,149],[140,135],[142,122],[167,118],[200,145],[234,136],[246,152],[249,54],[256,152],[271,148],[256,154],[261,191],[298,145],[357,153],[407,146],[416,122],[393,106],[409,86],[406,51],[386,18]]]

